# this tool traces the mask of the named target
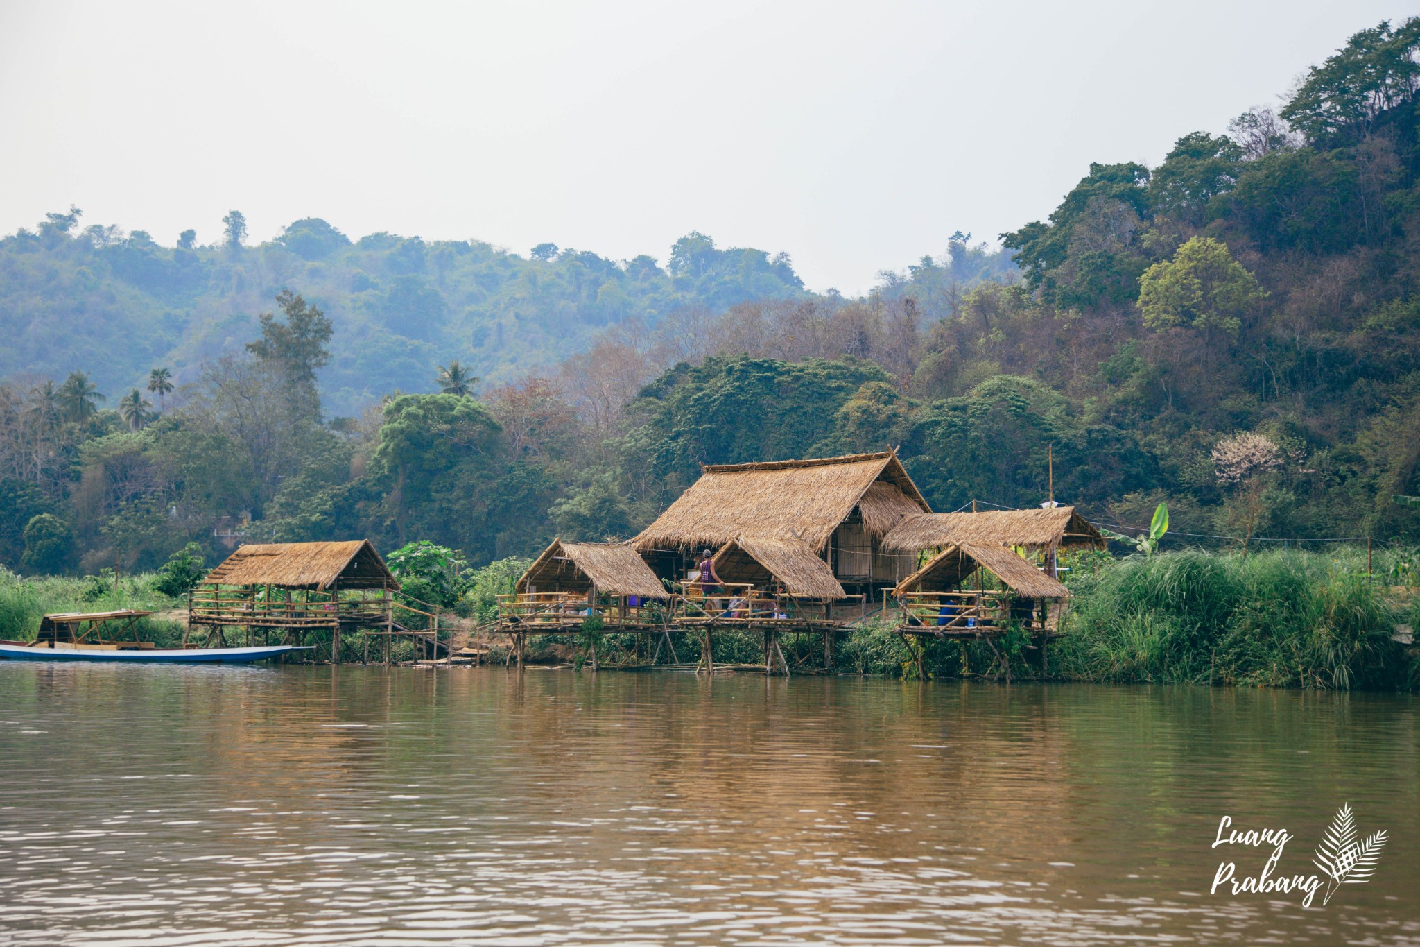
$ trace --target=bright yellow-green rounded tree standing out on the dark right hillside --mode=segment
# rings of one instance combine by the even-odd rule
[[[1264,298],[1252,274],[1213,237],[1189,240],[1139,280],[1139,310],[1152,329],[1189,325],[1237,338],[1242,317]]]

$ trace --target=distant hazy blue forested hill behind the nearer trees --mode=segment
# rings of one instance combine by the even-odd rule
[[[944,277],[963,285],[983,268],[1011,270],[997,254],[976,250],[971,267],[958,256]],[[190,382],[203,361],[240,352],[287,288],[335,327],[320,373],[334,415],[393,390],[432,390],[436,366],[450,361],[510,381],[555,369],[608,325],[809,298],[787,254],[719,248],[699,233],[676,241],[663,268],[649,256],[618,263],[554,244],[524,257],[388,233],[352,241],[321,219],[247,246],[240,212],[212,246],[186,231],[168,247],[142,230],[85,226],[70,209],[0,240],[0,378],[82,371],[101,392],[119,392],[163,366]]]

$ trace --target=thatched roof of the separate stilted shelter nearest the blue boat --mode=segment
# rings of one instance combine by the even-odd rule
[[[204,585],[277,585],[293,589],[398,589],[369,540],[240,545]]]

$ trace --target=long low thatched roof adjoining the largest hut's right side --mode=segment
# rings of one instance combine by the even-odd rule
[[[903,517],[883,537],[889,552],[920,552],[953,542],[1020,545],[1028,549],[1105,548],[1105,538],[1075,507],[993,510],[990,513],[923,513]]]

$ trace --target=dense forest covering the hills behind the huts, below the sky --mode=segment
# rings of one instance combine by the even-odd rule
[[[1413,544],[1417,55],[1420,20],[1359,33],[1277,114],[1092,165],[1005,253],[956,234],[861,300],[700,234],[662,268],[51,214],[0,240],[0,564],[210,565],[216,531],[480,566],[629,535],[701,463],[885,447],[937,510],[1037,504],[1052,457],[1056,498],[1166,500],[1170,541]]]

